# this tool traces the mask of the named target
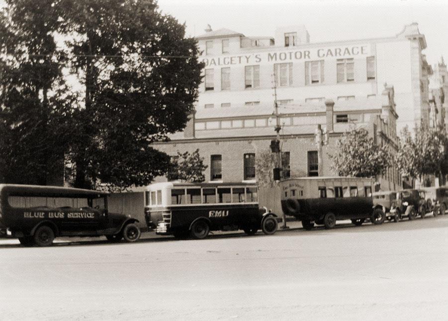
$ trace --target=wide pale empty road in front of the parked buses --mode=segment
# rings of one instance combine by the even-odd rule
[[[447,320],[448,215],[289,224],[204,240],[1,241],[0,320]]]

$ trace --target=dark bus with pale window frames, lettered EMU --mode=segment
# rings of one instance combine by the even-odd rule
[[[161,235],[201,239],[210,230],[273,234],[277,215],[258,203],[257,185],[244,183],[155,183],[145,192],[145,219]]]

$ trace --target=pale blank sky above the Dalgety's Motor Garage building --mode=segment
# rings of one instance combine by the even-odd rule
[[[274,36],[277,26],[304,24],[310,42],[391,37],[417,22],[429,64],[448,62],[448,1],[442,0],[158,0],[186,24],[187,36],[227,28],[245,36]],[[397,53],[398,54],[398,53]]]

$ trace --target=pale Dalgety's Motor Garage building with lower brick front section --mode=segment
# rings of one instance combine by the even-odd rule
[[[197,39],[205,67],[195,113],[157,148],[199,148],[207,181],[257,179],[255,160],[275,138],[275,100],[291,176],[335,175],[328,154],[350,128],[365,127],[394,153],[397,129],[430,122],[431,67],[416,23],[392,37],[350,41],[310,43],[304,26],[278,28],[274,37],[209,28]],[[329,133],[322,149],[318,125]],[[400,175],[391,168],[379,183],[399,188]]]

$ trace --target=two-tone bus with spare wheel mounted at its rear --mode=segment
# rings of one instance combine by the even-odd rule
[[[314,224],[333,228],[336,220],[351,219],[361,225],[366,219],[381,224],[382,206],[373,205],[373,180],[356,177],[304,177],[281,181],[281,207],[285,215],[295,216],[305,229]]]

